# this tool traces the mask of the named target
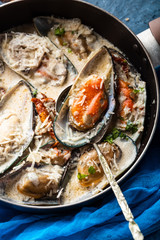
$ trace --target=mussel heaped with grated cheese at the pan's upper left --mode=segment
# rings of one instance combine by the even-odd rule
[[[3,61],[35,86],[60,86],[77,74],[71,62],[46,37],[12,32],[1,34],[0,41]]]

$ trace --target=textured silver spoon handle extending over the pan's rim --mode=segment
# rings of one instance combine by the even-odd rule
[[[129,229],[132,233],[133,239],[135,240],[143,240],[144,236],[141,233],[141,230],[139,228],[139,226],[137,225],[137,223],[134,221],[134,217],[133,214],[128,206],[128,203],[118,185],[118,183],[116,182],[110,168],[109,165],[105,159],[105,157],[102,155],[98,145],[96,143],[93,144],[94,148],[97,151],[98,157],[99,157],[99,161],[102,165],[103,171],[107,177],[108,182],[110,183],[110,186],[117,198],[118,204],[121,207],[122,213],[126,219],[126,221],[129,222]]]

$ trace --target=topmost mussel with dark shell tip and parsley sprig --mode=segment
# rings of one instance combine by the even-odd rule
[[[74,53],[78,59],[86,59],[94,49],[96,35],[93,29],[84,26],[81,20],[40,16],[33,19],[42,36],[47,36],[67,55]]]

